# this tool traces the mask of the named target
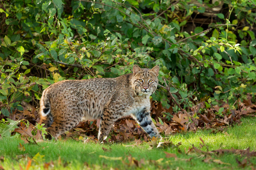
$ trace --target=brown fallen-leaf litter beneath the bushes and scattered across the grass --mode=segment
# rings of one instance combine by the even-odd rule
[[[223,103],[221,106],[215,105],[211,108],[207,108],[205,103],[202,101],[197,105],[192,106],[188,112],[173,112],[171,107],[169,109],[163,108],[161,103],[152,101],[151,113],[155,121],[156,127],[162,135],[171,135],[175,133],[184,133],[188,131],[196,131],[200,129],[211,129],[212,133],[223,132],[225,127],[231,126],[235,123],[241,123],[241,117],[243,116],[256,116],[256,105],[252,104],[250,98],[241,102],[238,101],[238,107],[234,109],[230,108],[228,103]],[[220,108],[224,108],[223,112],[218,114]],[[172,115],[171,118],[167,118],[166,114]],[[30,110],[23,108],[23,111],[15,111],[10,116],[5,117],[0,115],[0,119],[5,119],[8,123],[0,123],[0,137],[3,134],[6,136],[13,136],[15,133],[21,134],[21,139],[24,141],[24,144],[29,143],[32,145],[38,145],[38,141],[43,141],[42,131],[36,128],[36,123],[39,123],[38,111],[35,108]],[[19,121],[17,123],[15,121]],[[26,123],[26,121],[28,121]],[[63,138],[59,140],[67,140],[72,138],[76,141],[83,141],[84,143],[92,142],[98,143],[98,126],[99,120],[88,120],[79,123],[74,129],[63,135]],[[158,138],[150,139],[147,134],[142,130],[142,128],[137,124],[137,122],[131,117],[118,120],[113,125],[113,130],[109,134],[109,138],[105,142],[114,143],[114,142],[130,142],[133,141],[132,145],[124,145],[125,147],[139,147],[143,143],[147,143],[151,148],[150,149],[177,149],[178,153],[182,153],[178,145],[174,145],[171,141],[166,139],[159,140]],[[222,162],[220,159],[214,159],[212,156],[221,156],[225,153],[232,153],[238,156],[245,156],[243,160],[236,160],[239,167],[245,166],[255,166],[250,162],[250,157],[255,157],[256,152],[253,150],[250,152],[250,149],[246,150],[241,149],[218,149],[209,151],[208,146],[205,145],[204,141],[200,137],[200,148],[205,148],[207,151],[203,151],[200,148],[196,148],[194,145],[184,151],[185,155],[190,155],[194,153],[199,155],[198,158],[201,158],[204,163],[217,163],[217,164],[226,164],[229,163]],[[24,146],[19,144],[19,149],[24,151]],[[111,152],[111,148],[102,147],[104,152]],[[191,158],[183,159],[179,158],[174,153],[169,153],[164,151],[165,157],[168,159],[174,158],[175,161],[191,161]],[[25,156],[27,157],[27,156]],[[107,160],[121,160],[123,163],[128,166],[142,167],[143,164],[148,163],[161,163],[162,159],[158,160],[136,160],[131,155],[126,157],[108,157],[100,156],[100,158]],[[127,163],[128,162],[128,163]],[[30,167],[31,161],[28,162],[27,167]],[[53,165],[53,163],[45,163],[45,167]],[[27,168],[26,167],[26,168]],[[25,169],[26,169],[25,168]],[[22,169],[22,167],[21,167]]]

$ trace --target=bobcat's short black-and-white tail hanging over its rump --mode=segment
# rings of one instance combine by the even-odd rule
[[[44,123],[44,127],[50,127],[53,123],[53,115],[51,113],[51,107],[49,102],[49,94],[43,91],[40,101],[40,124]]]

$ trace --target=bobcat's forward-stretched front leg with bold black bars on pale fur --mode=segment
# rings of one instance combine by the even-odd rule
[[[161,138],[157,128],[155,127],[151,119],[150,111],[147,111],[147,109],[143,109],[142,111],[136,113],[135,117],[139,123],[139,126],[141,126],[143,130],[145,130],[145,132],[149,134],[150,137],[154,136]]]

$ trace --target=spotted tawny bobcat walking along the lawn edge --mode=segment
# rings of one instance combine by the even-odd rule
[[[46,138],[57,138],[85,119],[101,119],[98,140],[108,136],[114,122],[132,116],[150,135],[159,136],[150,115],[150,96],[158,86],[159,66],[140,69],[117,78],[63,80],[43,91],[40,123],[45,123]]]

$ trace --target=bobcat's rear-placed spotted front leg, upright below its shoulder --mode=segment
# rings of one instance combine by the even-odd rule
[[[113,113],[109,109],[104,109],[98,132],[98,140],[101,143],[109,135],[109,132],[116,120],[117,117],[113,116]]]

